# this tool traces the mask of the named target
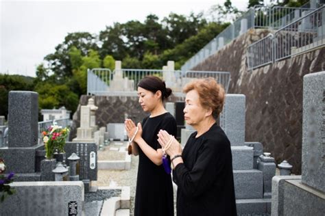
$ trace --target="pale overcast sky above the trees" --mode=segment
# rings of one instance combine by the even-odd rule
[[[232,0],[245,10],[248,0]],[[97,1],[16,1],[0,0],[0,73],[36,76],[36,66],[55,52],[67,33],[99,31],[113,23],[136,20],[148,14],[160,20],[171,12],[188,16],[208,13],[224,0],[97,0]]]

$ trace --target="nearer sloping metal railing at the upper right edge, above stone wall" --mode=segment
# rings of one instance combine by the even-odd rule
[[[248,46],[248,70],[298,55],[325,44],[325,6]]]

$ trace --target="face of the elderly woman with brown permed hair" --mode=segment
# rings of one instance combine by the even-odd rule
[[[208,114],[208,111],[202,107],[200,96],[196,90],[187,92],[183,111],[186,124],[191,126],[200,124]]]

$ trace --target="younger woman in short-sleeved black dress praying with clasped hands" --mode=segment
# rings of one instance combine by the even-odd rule
[[[150,115],[137,126],[132,120],[125,120],[128,137],[134,137],[132,153],[139,155],[134,215],[172,216],[171,175],[162,165],[163,150],[157,141],[160,130],[176,137],[176,120],[163,105],[163,100],[171,95],[171,89],[166,88],[165,82],[158,77],[145,77],[138,84],[138,95],[143,111],[149,112]],[[169,157],[167,159],[169,161]],[[170,167],[170,162],[168,165]]]

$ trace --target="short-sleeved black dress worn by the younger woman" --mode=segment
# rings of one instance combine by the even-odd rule
[[[176,120],[170,113],[153,118],[145,118],[142,122],[142,137],[145,142],[157,150],[160,129],[176,137]],[[156,165],[139,147],[139,167],[136,182],[135,216],[173,216],[173,185],[171,175],[167,174],[163,165]]]

